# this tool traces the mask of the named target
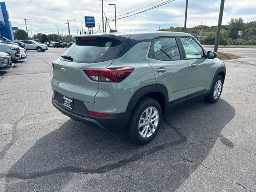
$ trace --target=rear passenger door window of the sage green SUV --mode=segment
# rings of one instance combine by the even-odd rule
[[[152,57],[166,61],[180,59],[180,52],[175,38],[157,38],[154,43]]]

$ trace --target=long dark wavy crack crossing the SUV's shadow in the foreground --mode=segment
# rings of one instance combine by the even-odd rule
[[[129,158],[126,158],[124,160],[120,160],[117,163],[114,164],[110,164],[110,165],[106,165],[106,166],[102,166],[96,169],[84,169],[84,168],[76,168],[76,167],[70,167],[70,166],[65,166],[65,167],[59,167],[47,172],[34,172],[31,174],[19,174],[19,173],[8,173],[8,174],[4,174],[4,173],[0,173],[0,178],[17,178],[17,179],[22,179],[22,180],[27,180],[27,179],[35,179],[38,177],[43,177],[43,176],[48,176],[48,175],[52,175],[52,174],[59,174],[62,172],[71,172],[71,173],[78,173],[78,174],[102,174],[105,172],[108,172],[110,170],[116,169],[116,168],[120,168],[130,162],[134,162],[136,160],[139,160],[140,158],[147,156],[149,154],[152,154],[156,151],[159,150],[163,150],[165,148],[171,147],[171,146],[175,146],[178,144],[182,144],[184,143],[184,140],[180,139],[177,140],[175,142],[170,142],[170,143],[166,143],[166,144],[162,144],[160,146],[156,146],[154,148],[150,148],[144,152],[141,152],[139,154],[136,154],[134,156],[131,156]]]

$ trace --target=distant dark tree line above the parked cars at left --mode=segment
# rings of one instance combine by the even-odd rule
[[[72,38],[72,35],[70,35],[70,37]],[[21,40],[21,39],[29,39],[29,40],[34,40],[34,39],[39,39],[39,41],[41,43],[43,42],[49,42],[49,41],[62,41],[62,36],[58,36],[58,34],[43,34],[43,33],[38,33],[38,34],[35,34],[33,36],[33,38],[31,37],[28,37],[28,34],[25,30],[22,30],[22,29],[19,29],[17,30],[16,32],[14,32],[14,39],[15,40]],[[69,36],[63,36],[63,41],[69,43]]]

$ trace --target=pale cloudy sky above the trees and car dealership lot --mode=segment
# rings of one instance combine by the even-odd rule
[[[207,26],[216,26],[221,0],[188,0],[187,27],[200,25],[201,22]],[[100,24],[102,32],[101,0],[6,0],[6,8],[12,26],[26,30],[24,18],[27,18],[28,34],[39,32],[68,34],[67,20],[70,22],[70,33],[72,35],[82,30],[84,16],[94,16],[96,24]],[[166,2],[166,0],[103,0],[103,10],[108,18],[114,19],[114,6],[116,4],[117,30],[128,31],[155,31],[160,28],[184,26],[184,15],[186,0],[174,0],[158,8],[130,16],[136,9],[142,6],[150,7]],[[148,7],[149,8],[149,7]],[[145,10],[143,8],[142,10]],[[140,11],[142,11],[140,10]],[[242,17],[244,22],[256,20],[256,0],[226,0],[222,24],[228,24],[232,17]],[[130,12],[130,13],[129,13]],[[205,12],[205,14],[204,14]],[[203,17],[204,16],[204,17]],[[206,20],[207,19],[207,20]],[[105,22],[105,21],[104,21]],[[115,28],[115,22],[110,21],[110,27]],[[83,30],[88,31],[83,24]],[[62,30],[62,31],[61,31]],[[99,26],[93,28],[99,32]],[[109,28],[108,30],[109,31]]]

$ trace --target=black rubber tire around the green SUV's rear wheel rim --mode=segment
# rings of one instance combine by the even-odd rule
[[[140,122],[140,117],[142,116],[143,112],[148,107],[156,108],[158,111],[159,118],[158,118],[158,124],[157,124],[156,129],[153,132],[153,134],[147,138],[143,138],[140,135],[138,126],[139,126],[139,122]],[[160,104],[156,100],[154,100],[152,98],[148,98],[148,97],[144,97],[144,98],[140,99],[132,112],[130,121],[126,128],[126,135],[127,135],[128,139],[131,142],[134,142],[134,143],[140,144],[140,145],[150,142],[154,138],[154,136],[156,136],[156,134],[159,130],[161,119],[162,119],[162,109],[161,109]]]

